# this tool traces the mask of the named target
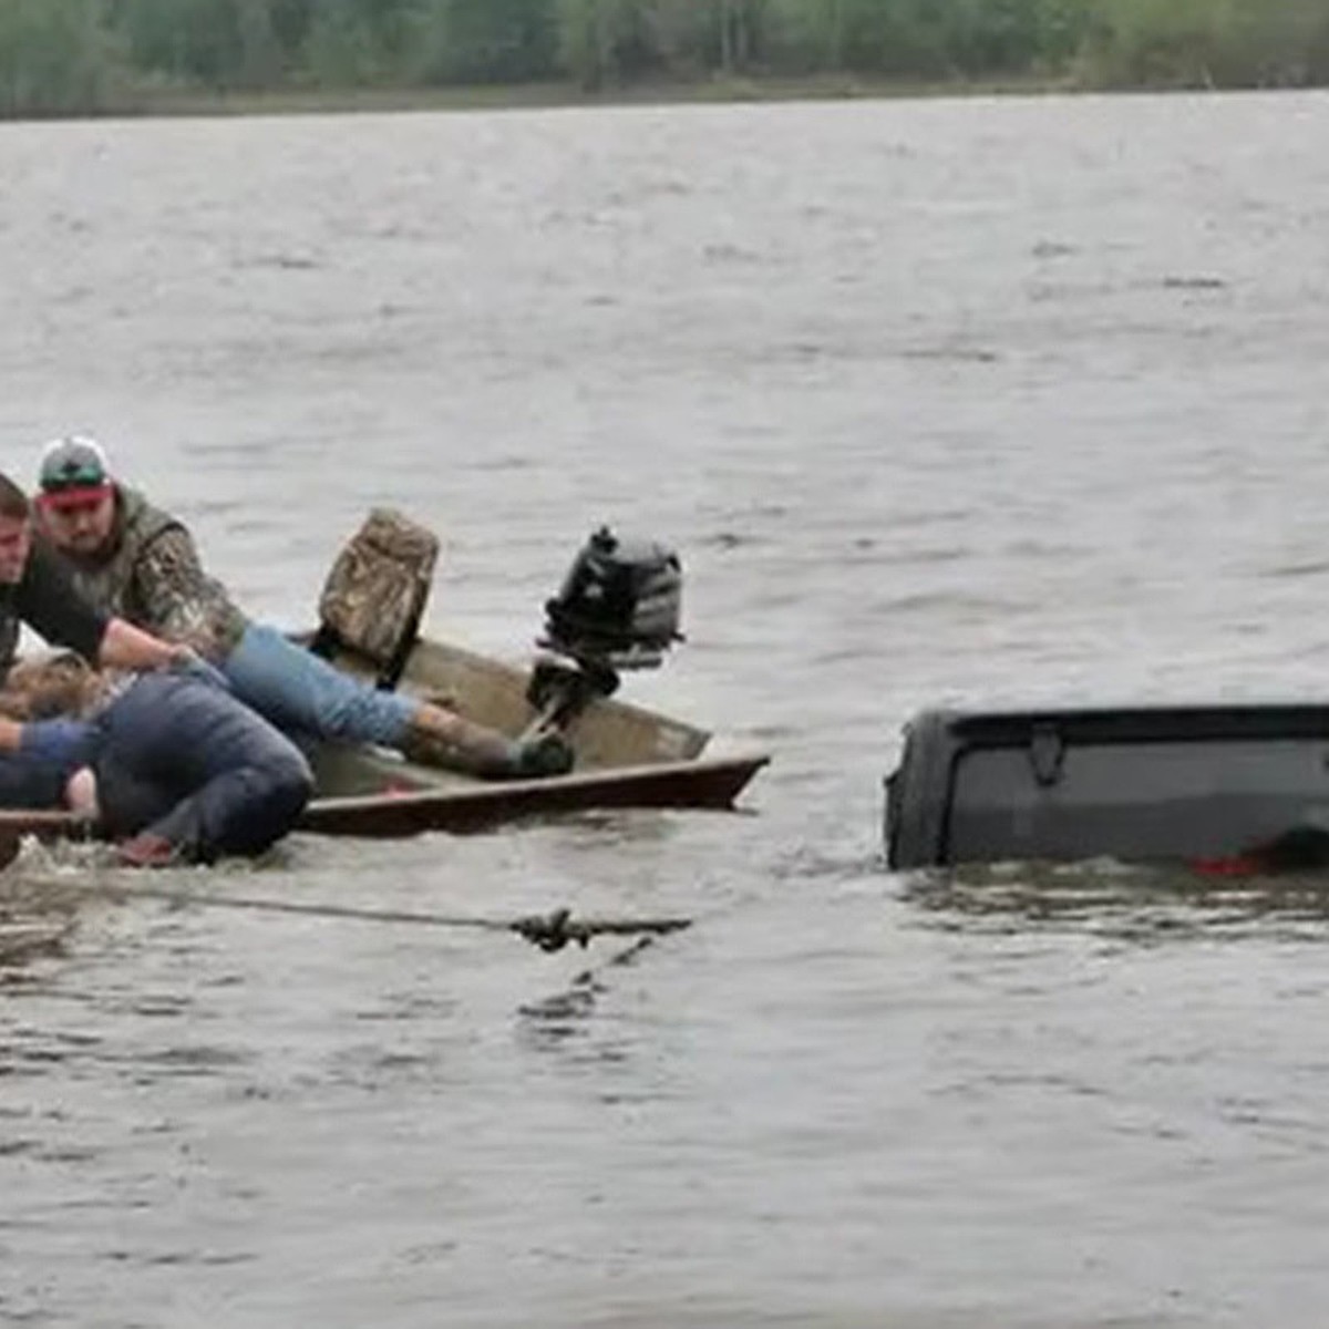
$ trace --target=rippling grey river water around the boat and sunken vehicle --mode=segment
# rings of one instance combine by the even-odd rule
[[[0,1321],[1318,1326],[1329,888],[900,877],[941,702],[1329,694],[1329,98],[0,129],[0,465],[97,433],[255,614],[372,504],[520,658],[601,521],[740,815],[296,837],[0,987]],[[0,885],[117,877],[25,855]]]

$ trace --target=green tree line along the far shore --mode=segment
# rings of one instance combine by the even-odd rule
[[[154,94],[744,78],[1329,81],[1325,0],[0,0],[0,116]]]

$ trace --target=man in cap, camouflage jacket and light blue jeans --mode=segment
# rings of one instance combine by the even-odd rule
[[[554,734],[514,742],[440,706],[350,678],[247,618],[202,567],[183,524],[113,480],[92,439],[48,444],[39,473],[43,533],[74,583],[106,613],[193,647],[235,696],[298,738],[397,748],[415,762],[485,779],[562,775],[567,744]]]

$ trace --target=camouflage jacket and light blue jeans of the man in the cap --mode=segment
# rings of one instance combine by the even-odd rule
[[[417,703],[368,687],[251,623],[209,577],[189,532],[137,490],[116,486],[110,554],[69,557],[74,583],[106,613],[169,642],[185,642],[226,676],[235,695],[302,742],[340,739],[400,747]]]

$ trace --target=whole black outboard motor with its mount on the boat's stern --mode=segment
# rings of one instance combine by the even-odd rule
[[[540,712],[528,732],[557,728],[589,700],[618,688],[619,670],[658,668],[683,639],[678,554],[601,526],[582,546],[558,594],[545,602],[526,696]]]

